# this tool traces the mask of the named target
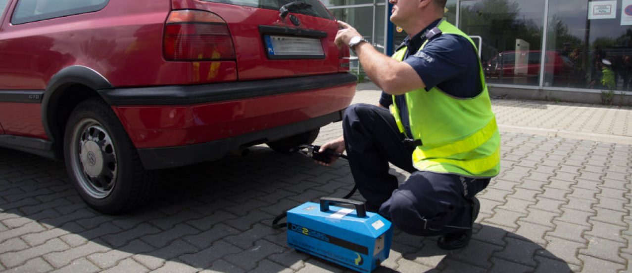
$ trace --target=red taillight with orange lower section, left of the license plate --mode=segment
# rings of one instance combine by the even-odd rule
[[[235,59],[226,21],[207,11],[171,11],[164,28],[162,50],[167,61]]]

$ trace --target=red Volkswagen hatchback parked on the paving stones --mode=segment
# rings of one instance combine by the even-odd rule
[[[319,0],[0,0],[0,146],[133,209],[147,170],[288,151],[340,120],[356,77],[336,32]]]

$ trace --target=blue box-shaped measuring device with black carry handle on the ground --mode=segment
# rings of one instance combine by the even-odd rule
[[[348,204],[355,209],[331,206]],[[371,272],[389,257],[391,222],[367,212],[364,202],[323,197],[287,213],[288,245],[358,272]]]

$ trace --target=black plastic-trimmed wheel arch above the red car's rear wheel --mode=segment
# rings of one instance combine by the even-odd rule
[[[104,76],[85,66],[65,67],[52,76],[42,98],[42,125],[57,158],[63,158],[63,136],[70,113],[83,100],[100,97],[98,90],[111,88]]]

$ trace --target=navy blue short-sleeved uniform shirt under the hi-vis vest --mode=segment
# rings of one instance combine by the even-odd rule
[[[482,92],[480,83],[480,67],[478,66],[478,54],[468,39],[460,35],[441,34],[430,37],[428,44],[422,47],[427,40],[427,33],[439,24],[436,20],[417,33],[412,38],[406,37],[399,46],[406,45],[408,50],[404,55],[404,62],[410,64],[416,73],[422,78],[428,91],[437,86],[448,95],[457,98],[473,98]],[[408,122],[408,108],[404,95],[395,96],[406,134],[410,137],[410,125]],[[382,91],[380,105],[389,107],[392,104],[392,96]]]

